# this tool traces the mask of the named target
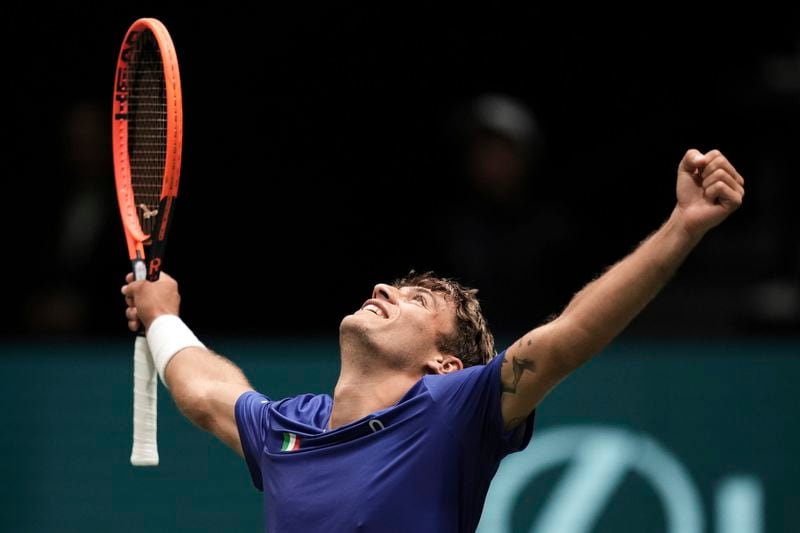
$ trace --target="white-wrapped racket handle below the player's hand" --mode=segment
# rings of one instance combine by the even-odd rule
[[[144,335],[136,336],[133,352],[134,466],[158,465],[158,372]]]

